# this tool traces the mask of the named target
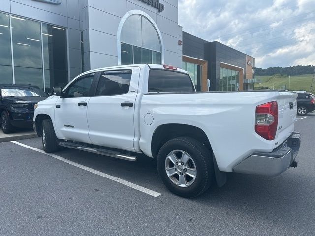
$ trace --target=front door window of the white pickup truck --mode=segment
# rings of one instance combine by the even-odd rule
[[[67,89],[67,97],[89,97],[95,73],[84,75]]]

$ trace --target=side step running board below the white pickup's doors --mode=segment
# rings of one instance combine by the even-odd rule
[[[118,151],[106,150],[106,149],[102,149],[102,148],[91,148],[91,147],[88,147],[87,145],[82,145],[82,144],[78,144],[78,143],[59,142],[58,145],[66,147],[66,148],[73,148],[73,149],[78,149],[78,150],[82,150],[82,151],[88,151],[88,152],[104,155],[104,156],[115,157],[115,158],[123,159],[126,161],[136,161],[137,160],[136,156],[126,155],[126,154],[120,153]]]

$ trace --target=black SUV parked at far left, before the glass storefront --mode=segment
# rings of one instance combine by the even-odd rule
[[[15,127],[32,128],[34,105],[48,95],[32,85],[0,84],[1,128],[12,133]]]

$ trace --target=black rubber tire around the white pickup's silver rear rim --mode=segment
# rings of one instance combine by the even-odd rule
[[[167,156],[174,150],[177,152],[178,150],[186,152],[194,162],[193,164],[195,165],[196,175],[194,181],[189,186],[182,187],[174,183],[174,181],[176,181],[176,176],[180,177],[179,174],[181,173],[175,174],[172,177],[173,180],[171,180],[171,177],[168,177],[166,172]],[[163,183],[171,192],[181,197],[197,197],[210,187],[212,180],[214,179],[214,167],[210,151],[203,144],[189,137],[179,137],[167,141],[160,148],[157,161],[158,174],[161,177]],[[169,163],[172,164],[171,162]],[[174,164],[174,166],[175,165],[176,164]],[[186,173],[184,173],[184,175],[185,174]],[[187,175],[185,178],[185,180],[187,180]]]

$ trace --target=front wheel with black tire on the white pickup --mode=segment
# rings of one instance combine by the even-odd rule
[[[59,150],[58,139],[55,134],[53,123],[50,119],[44,119],[42,122],[41,140],[43,149],[47,153]]]

